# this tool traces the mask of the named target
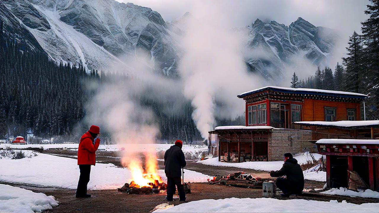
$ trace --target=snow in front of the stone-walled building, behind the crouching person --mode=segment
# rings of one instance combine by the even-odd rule
[[[313,157],[316,159],[321,158],[321,155],[318,153],[312,153]],[[298,160],[299,164],[307,163],[307,160],[312,160],[308,152],[299,153],[294,156],[296,160]],[[230,166],[241,169],[255,169],[262,171],[271,171],[271,170],[279,170],[283,166],[283,161],[251,161],[251,162],[243,162],[243,163],[226,163],[219,162],[218,157],[209,158],[207,160],[197,161],[196,163],[201,163],[205,165],[211,166]],[[318,167],[314,167],[304,171],[304,179],[306,180],[316,180],[316,181],[326,181],[326,172],[320,171],[316,172]]]

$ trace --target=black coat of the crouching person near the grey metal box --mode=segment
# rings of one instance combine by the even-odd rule
[[[283,164],[283,167],[279,171],[270,172],[271,177],[282,177],[287,176],[287,180],[294,187],[296,192],[301,192],[304,189],[304,174],[298,164],[298,160],[295,158],[289,158]]]

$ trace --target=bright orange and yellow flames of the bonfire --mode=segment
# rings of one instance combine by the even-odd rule
[[[157,163],[157,157],[154,153],[145,153],[145,171],[142,167],[141,161],[136,158],[132,157],[127,162],[127,167],[130,171],[131,177],[130,177],[130,183],[134,182],[133,185],[135,187],[143,187],[143,186],[149,186],[149,183],[155,183],[155,180],[158,180],[159,183],[162,183],[161,176],[158,175],[158,163]],[[127,161],[125,157],[122,159],[122,164],[126,163]]]

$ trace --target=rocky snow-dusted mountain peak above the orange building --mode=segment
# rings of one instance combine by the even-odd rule
[[[283,65],[291,63],[295,55],[315,65],[326,65],[339,37],[334,30],[315,27],[301,17],[290,26],[257,19],[247,29],[245,60],[251,70],[270,79],[282,75]]]

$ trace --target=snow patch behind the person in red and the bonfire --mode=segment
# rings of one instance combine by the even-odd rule
[[[76,189],[79,179],[79,167],[76,159],[43,153],[18,160],[2,158],[0,159],[0,171],[0,181],[56,188]],[[164,170],[158,172],[166,182]],[[185,169],[186,182],[207,182],[208,177],[208,175]],[[129,178],[130,171],[127,168],[118,168],[114,164],[96,163],[96,166],[91,167],[88,189],[116,189],[124,183],[130,182]]]

